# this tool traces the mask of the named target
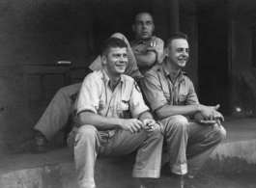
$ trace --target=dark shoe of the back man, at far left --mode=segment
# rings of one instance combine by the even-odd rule
[[[43,133],[39,130],[34,129],[33,142],[31,146],[32,153],[45,153],[47,152],[46,145],[48,144],[47,139]]]

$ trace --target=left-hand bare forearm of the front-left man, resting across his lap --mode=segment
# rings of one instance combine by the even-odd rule
[[[123,123],[122,119],[102,117],[91,112],[80,113],[79,121],[81,125],[92,124],[100,129],[120,128]]]

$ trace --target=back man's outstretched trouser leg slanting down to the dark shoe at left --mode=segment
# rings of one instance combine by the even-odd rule
[[[47,140],[51,139],[67,123],[75,100],[72,96],[78,94],[80,88],[81,83],[59,90],[34,129],[40,130]]]

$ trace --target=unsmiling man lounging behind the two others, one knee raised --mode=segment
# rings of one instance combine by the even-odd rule
[[[155,24],[150,13],[138,13],[132,29],[136,40],[131,42],[131,47],[122,34],[114,34],[112,38],[124,40],[128,44],[128,66],[125,74],[139,81],[141,73],[143,74],[163,60],[163,41],[153,36]],[[100,56],[90,68],[92,70],[101,68]],[[67,86],[60,89],[52,98],[42,118],[34,127],[33,152],[45,152],[48,141],[65,126],[71,116],[73,103],[80,88],[81,83]]]

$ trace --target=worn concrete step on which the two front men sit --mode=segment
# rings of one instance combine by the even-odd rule
[[[232,173],[256,164],[256,119],[225,121],[225,141],[216,148],[201,171]],[[163,154],[162,161],[167,155]],[[96,182],[100,188],[132,188],[131,177],[135,154],[123,157],[99,158],[96,163]],[[169,181],[161,177],[161,184]],[[1,188],[76,188],[73,156],[67,147],[54,148],[48,153],[21,153],[1,157]],[[160,187],[160,186],[156,186]]]

